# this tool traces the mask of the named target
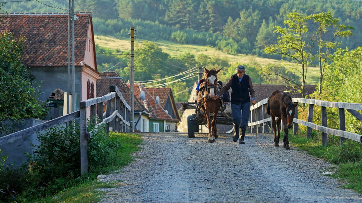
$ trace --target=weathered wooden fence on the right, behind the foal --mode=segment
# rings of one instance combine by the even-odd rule
[[[308,109],[308,121],[298,119],[298,107],[293,120],[293,131],[294,135],[298,131],[298,124],[307,126],[307,138],[311,137],[312,129],[318,130],[322,133],[322,143],[324,146],[327,145],[327,135],[335,135],[340,137],[340,144],[342,144],[346,138],[352,139],[357,142],[362,142],[362,135],[351,133],[346,130],[345,126],[345,109],[362,122],[362,115],[357,110],[362,110],[362,104],[355,103],[343,103],[343,102],[325,102],[315,99],[303,99],[303,98],[292,98],[293,102],[299,102],[309,105]],[[268,98],[261,100],[254,106],[251,106],[250,118],[248,123],[248,131],[251,133],[272,133],[271,118],[266,115],[266,105]],[[320,106],[321,108],[321,124],[317,125],[313,123],[313,109],[314,105]],[[339,115],[339,129],[332,129],[327,127],[327,107],[338,108]],[[283,125],[281,125],[282,127]],[[271,130],[269,130],[269,128]]]

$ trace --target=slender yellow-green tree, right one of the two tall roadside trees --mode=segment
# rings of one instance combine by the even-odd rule
[[[322,93],[323,75],[333,49],[337,48],[341,42],[334,41],[336,37],[348,37],[352,35],[352,26],[339,24],[337,18],[333,18],[331,12],[322,12],[312,15],[317,24],[315,40],[318,45],[318,65],[319,65],[319,88],[318,93]]]

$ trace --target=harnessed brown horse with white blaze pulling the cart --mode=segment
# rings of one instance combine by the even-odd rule
[[[200,105],[203,105],[201,110],[205,112],[206,120],[207,120],[207,128],[209,128],[209,138],[207,142],[212,143],[216,141],[216,138],[219,137],[218,129],[216,128],[216,116],[219,112],[220,99],[212,99],[219,92],[218,88],[218,76],[219,70],[211,69],[207,70],[205,68],[205,72],[207,73],[205,82],[200,85],[200,88],[203,87],[203,94],[198,94],[197,101]],[[213,112],[213,118],[211,121],[210,114]]]

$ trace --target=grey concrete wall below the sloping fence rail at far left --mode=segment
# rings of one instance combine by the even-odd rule
[[[34,118],[28,118],[25,120],[25,124],[16,124],[15,126],[20,130],[23,130],[26,128],[30,128],[31,126],[41,124],[42,122],[44,121]],[[34,133],[25,136],[23,138],[17,139],[13,142],[0,145],[0,150],[3,151],[2,155],[8,154],[8,159],[6,161],[6,164],[14,163],[15,165],[20,167],[23,161],[26,162],[27,158],[24,155],[24,153],[25,152],[28,152],[30,154],[33,153],[33,150],[31,150],[30,143],[40,144],[39,141],[37,141],[36,139],[37,139],[37,134]]]

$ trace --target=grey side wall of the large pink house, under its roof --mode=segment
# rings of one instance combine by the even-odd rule
[[[59,88],[64,92],[68,89],[68,67],[30,67],[36,81],[44,81],[41,85],[41,94],[39,99],[46,101],[51,93]],[[81,98],[81,67],[75,66],[75,110],[79,110],[79,101]]]

